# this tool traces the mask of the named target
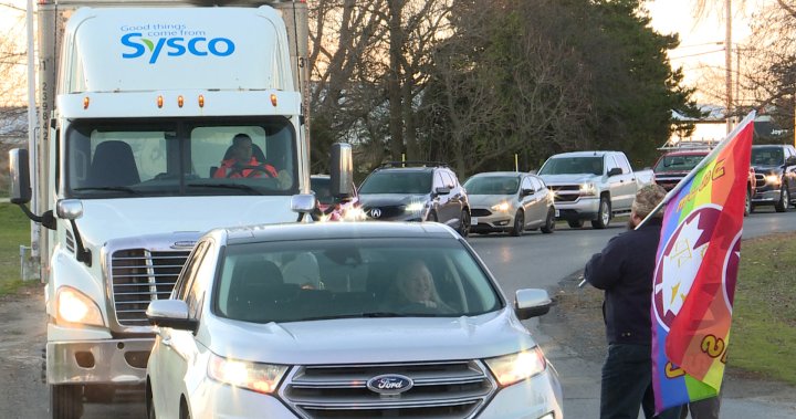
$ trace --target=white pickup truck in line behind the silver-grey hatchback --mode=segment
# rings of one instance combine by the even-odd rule
[[[610,220],[629,214],[636,191],[654,181],[652,170],[630,167],[621,151],[575,151],[552,156],[538,171],[555,193],[558,218],[572,228],[585,220],[605,229]]]

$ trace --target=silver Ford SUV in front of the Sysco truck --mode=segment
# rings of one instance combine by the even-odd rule
[[[298,259],[318,265],[323,286],[296,283],[285,261]],[[425,300],[395,304],[401,290]],[[514,297],[439,223],[217,229],[170,297],[148,306],[158,327],[147,408],[150,418],[561,418],[557,374],[520,322],[552,302],[544,290]]]

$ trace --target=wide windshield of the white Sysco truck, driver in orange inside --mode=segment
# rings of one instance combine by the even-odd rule
[[[65,136],[70,198],[297,193],[283,117],[78,121]]]

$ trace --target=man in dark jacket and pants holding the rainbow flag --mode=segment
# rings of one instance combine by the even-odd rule
[[[642,406],[645,416],[653,417],[650,295],[662,213],[636,227],[664,196],[659,185],[639,189],[628,221],[630,230],[612,238],[584,271],[589,284],[605,291],[608,355],[603,364],[600,419],[636,419]],[[679,419],[680,407],[659,418]]]

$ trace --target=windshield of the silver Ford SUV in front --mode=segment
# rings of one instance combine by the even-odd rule
[[[473,254],[450,239],[230,244],[213,290],[219,316],[253,323],[459,317],[501,307]]]

